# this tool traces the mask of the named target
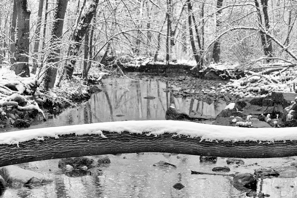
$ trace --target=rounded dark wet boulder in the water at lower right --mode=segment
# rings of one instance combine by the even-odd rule
[[[257,180],[252,174],[249,173],[238,173],[233,178],[233,183],[238,186],[245,187],[247,189],[257,189]]]

